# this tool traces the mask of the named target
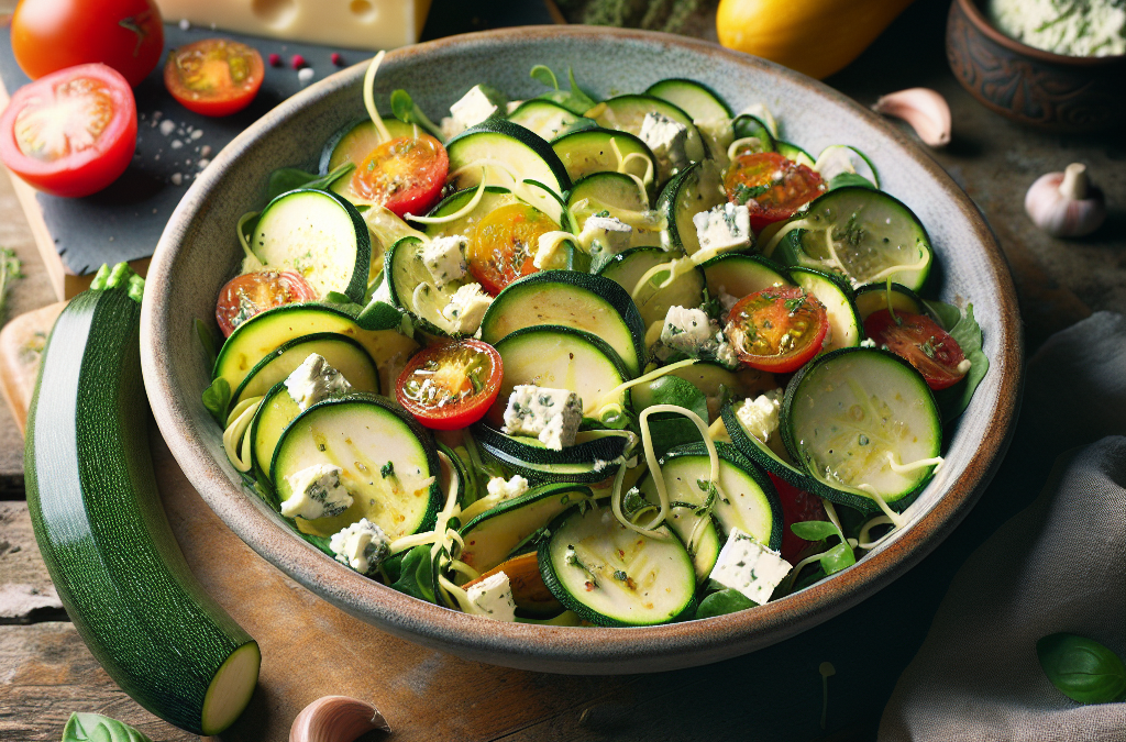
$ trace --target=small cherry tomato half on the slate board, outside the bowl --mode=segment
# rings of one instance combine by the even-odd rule
[[[250,105],[265,74],[262,55],[253,46],[205,38],[168,53],[164,87],[188,110],[229,116]]]

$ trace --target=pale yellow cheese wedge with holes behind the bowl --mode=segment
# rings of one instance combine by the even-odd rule
[[[340,48],[413,44],[430,0],[157,0],[167,21]]]

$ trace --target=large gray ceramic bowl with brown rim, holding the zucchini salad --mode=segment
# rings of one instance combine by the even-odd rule
[[[222,431],[200,403],[209,368],[193,320],[214,315],[215,297],[240,259],[239,216],[263,204],[267,176],[315,168],[321,146],[364,115],[363,66],[328,78],[278,106],[229,144],[176,209],[149,270],[142,325],[145,385],[161,432],[203,499],[247,544],[325,600],[381,628],[462,658],[548,672],[627,673],[715,662],[785,640],[864,600],[903,574],[962,520],[1000,463],[1020,386],[1020,322],[1012,281],[978,211],[906,136],[806,77],[704,42],[635,30],[530,27],[446,38],[387,54],[376,101],[408,89],[431,117],[488,81],[513,98],[539,92],[534,64],[574,68],[600,96],[644,90],[670,77],[705,82],[735,109],[767,104],[788,140],[812,152],[858,146],[885,188],[921,217],[933,239],[932,290],[974,302],[985,332],[989,375],[953,433],[947,463],[908,511],[910,527],[832,579],[752,610],[645,628],[503,624],[438,608],[336,563],[298,538],[240,485]]]

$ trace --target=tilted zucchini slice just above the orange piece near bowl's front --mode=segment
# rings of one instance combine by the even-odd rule
[[[484,573],[503,563],[518,546],[574,503],[589,500],[590,488],[545,484],[501,502],[465,524],[461,560]]]

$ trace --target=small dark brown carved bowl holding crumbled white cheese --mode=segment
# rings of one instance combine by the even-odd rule
[[[1126,125],[1126,55],[1045,52],[994,28],[980,0],[954,0],[946,56],[969,95],[1015,122],[1065,134]]]

